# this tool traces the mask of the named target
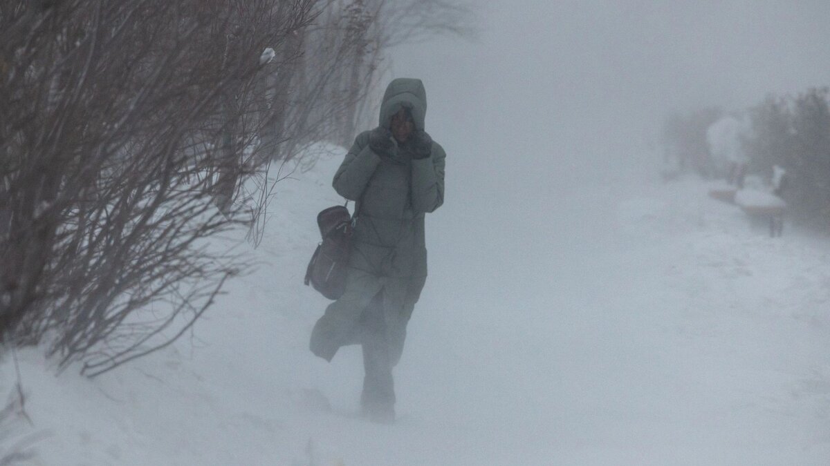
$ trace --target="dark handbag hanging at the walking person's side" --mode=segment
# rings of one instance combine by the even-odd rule
[[[305,270],[305,284],[310,284],[328,299],[339,299],[346,288],[353,217],[346,206],[333,206],[317,214],[317,226],[323,240],[311,255]]]

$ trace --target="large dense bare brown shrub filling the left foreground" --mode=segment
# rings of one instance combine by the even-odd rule
[[[4,333],[50,335],[95,375],[172,342],[246,268],[207,239],[251,221],[261,51],[314,3],[6,2]]]

